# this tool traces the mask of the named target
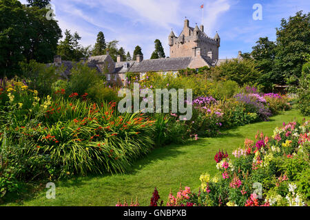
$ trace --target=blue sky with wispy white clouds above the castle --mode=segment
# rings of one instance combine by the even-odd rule
[[[21,0],[25,3],[25,0]],[[160,39],[169,56],[168,35],[183,29],[185,17],[192,27],[205,25],[205,32],[221,38],[220,58],[236,57],[238,51],[251,52],[259,37],[276,39],[276,28],[282,18],[297,11],[308,13],[307,0],[52,0],[59,26],[78,32],[81,44],[94,45],[102,31],[106,41],[119,41],[130,54],[136,45],[142,47],[144,58],[154,51]],[[254,21],[253,5],[262,5],[262,20]],[[200,5],[204,4],[204,17]]]

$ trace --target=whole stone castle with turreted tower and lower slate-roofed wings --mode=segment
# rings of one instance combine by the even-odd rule
[[[147,72],[159,72],[161,74],[172,72],[176,74],[180,69],[214,67],[227,61],[227,59],[218,59],[218,48],[220,47],[218,33],[212,39],[205,34],[203,25],[200,25],[200,28],[198,25],[195,28],[189,27],[188,19],[185,19],[180,35],[177,37],[172,31],[169,34],[168,41],[170,56],[167,58],[143,60],[142,55],[137,55],[136,61],[122,61],[121,56],[118,56],[117,61],[114,62],[111,56],[106,54],[91,56],[87,60],[87,65],[96,68],[101,73],[107,71],[105,74],[109,83],[121,83],[125,81],[127,72],[140,74],[140,77],[143,78]],[[241,52],[239,52],[238,58],[240,55]],[[67,69],[63,76],[68,78],[74,63],[61,61],[60,56],[55,56],[53,65],[65,65]]]

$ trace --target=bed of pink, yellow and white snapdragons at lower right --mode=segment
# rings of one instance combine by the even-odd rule
[[[224,151],[214,159],[218,174],[200,176],[200,190],[180,187],[170,193],[166,206],[309,206],[310,121],[289,122],[271,137],[257,133],[233,152]],[[158,191],[151,206],[161,206]],[[117,203],[126,206],[127,203]]]

